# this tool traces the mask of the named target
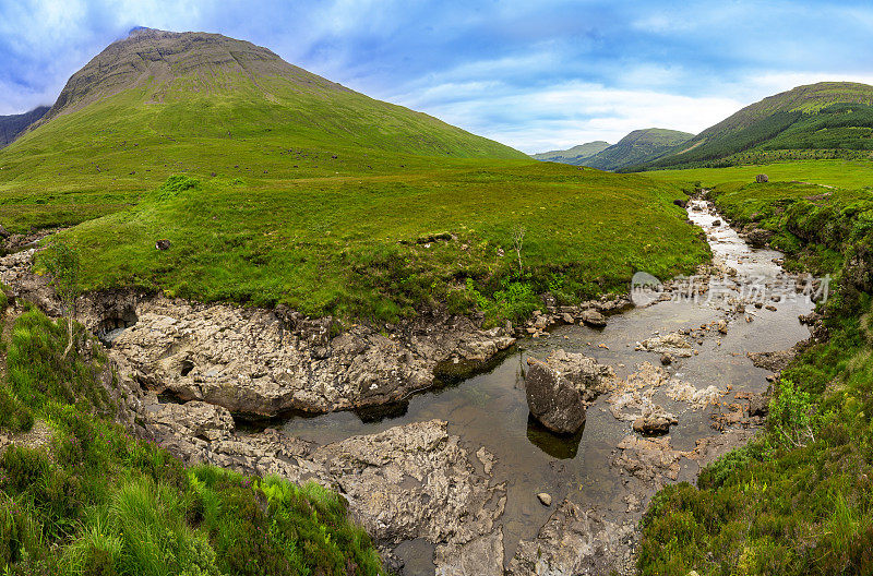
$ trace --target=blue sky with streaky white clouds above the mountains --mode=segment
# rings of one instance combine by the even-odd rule
[[[869,0],[0,0],[0,115],[50,105],[134,26],[249,40],[527,153],[873,84]]]

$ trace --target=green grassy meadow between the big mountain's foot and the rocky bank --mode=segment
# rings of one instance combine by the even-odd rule
[[[574,300],[623,290],[637,269],[690,272],[708,253],[671,203],[682,192],[646,177],[534,161],[417,161],[380,177],[177,177],[60,237],[80,251],[88,289],[131,286],[378,320],[428,308],[469,312],[468,278],[491,299],[523,281],[537,293],[563,287]],[[512,247],[518,226],[523,271]],[[434,232],[455,239],[417,243]],[[158,239],[170,250],[155,250]]]

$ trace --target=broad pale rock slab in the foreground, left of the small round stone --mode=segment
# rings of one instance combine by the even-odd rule
[[[395,427],[328,444],[309,457],[349,501],[378,541],[426,538],[464,544],[494,531],[505,483],[478,473],[461,439],[441,420]]]

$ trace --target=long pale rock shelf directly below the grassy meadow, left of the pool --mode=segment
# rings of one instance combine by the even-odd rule
[[[481,331],[469,319],[420,317],[391,337],[367,325],[337,335],[332,319],[283,307],[206,305],[135,292],[88,296],[80,320],[96,331],[119,314],[120,301],[128,302],[124,314],[132,319],[109,350],[121,372],[156,393],[234,413],[325,412],[398,401],[475,372],[515,343],[502,328]]]

